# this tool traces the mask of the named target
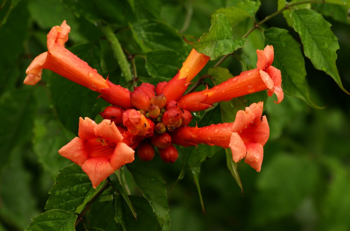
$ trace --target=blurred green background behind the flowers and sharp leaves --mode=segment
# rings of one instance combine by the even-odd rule
[[[30,62],[47,51],[46,35],[51,27],[66,20],[71,26],[66,47],[104,77],[110,74],[114,82],[124,83],[109,45],[101,39],[103,34],[85,18],[92,3],[83,3],[86,8],[81,9],[71,7],[74,3],[81,6],[80,1],[63,1],[68,7],[58,0],[2,0],[0,4],[0,231],[24,230],[32,217],[44,211],[47,192],[58,170],[70,164],[57,150],[77,135],[79,116],[95,118],[107,105],[96,99],[95,92],[49,71],[43,72],[43,80],[35,86],[22,84]],[[94,12],[117,28],[123,47],[137,52],[138,45],[128,39],[129,20],[152,14],[195,40],[208,31],[210,15],[216,9],[237,1],[163,0],[149,5],[149,1],[135,0],[135,6],[145,6],[136,7],[136,18],[129,15],[127,1],[111,2],[114,1],[96,3]],[[344,9],[336,5],[313,8],[324,14],[339,39],[337,67],[349,91],[349,15],[341,14]],[[262,1],[257,20],[276,9],[276,1]],[[247,21],[235,36],[251,26]],[[288,29],[300,41],[282,14],[267,21],[265,27]],[[248,39],[245,52],[262,49],[261,32],[255,31]],[[186,58],[191,47],[184,42],[182,46],[184,51],[179,52]],[[176,64],[179,68],[181,57]],[[151,77],[144,59],[135,61],[140,80],[148,81]],[[221,66],[232,74],[241,72],[233,57]],[[243,194],[226,167],[224,150],[202,164],[199,180],[205,215],[189,171],[171,189],[181,171],[181,159],[175,164],[163,163],[160,158],[153,160],[167,183],[172,230],[350,230],[350,97],[329,76],[315,70],[308,59],[306,70],[311,99],[325,109],[313,109],[287,95],[279,105],[273,103],[273,98],[268,99],[264,113],[271,133],[264,147],[264,162],[260,173],[243,162],[239,164]],[[168,72],[174,73],[174,69]],[[131,181],[129,187],[138,193]]]

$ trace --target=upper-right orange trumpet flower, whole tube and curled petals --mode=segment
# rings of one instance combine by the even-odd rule
[[[275,93],[278,99],[276,103],[280,103],[283,100],[282,80],[280,70],[271,66],[273,47],[266,46],[264,50],[257,50],[257,54],[257,68],[242,72],[214,88],[187,94],[179,100],[180,106],[189,111],[200,111],[208,109],[214,103],[262,90],[268,90],[269,96]]]

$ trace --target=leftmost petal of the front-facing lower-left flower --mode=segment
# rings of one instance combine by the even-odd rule
[[[70,159],[79,166],[82,166],[82,164],[87,159],[85,141],[80,139],[79,137],[75,137],[68,144],[59,149],[58,153],[61,156]]]

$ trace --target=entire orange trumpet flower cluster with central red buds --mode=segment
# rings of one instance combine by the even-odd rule
[[[190,127],[193,111],[206,110],[214,103],[268,90],[283,99],[281,73],[271,66],[273,47],[258,50],[257,68],[242,72],[214,88],[184,95],[190,81],[207,64],[209,57],[192,50],[179,72],[168,82],[156,86],[142,83],[130,91],[105,80],[96,69],[64,48],[70,27],[64,21],[47,36],[48,51],[36,57],[26,70],[25,84],[41,80],[42,69],[98,92],[112,104],[100,113],[104,119],[96,124],[80,118],[78,136],[58,152],[80,165],[93,187],[111,173],[134,160],[134,150],[143,161],[150,161],[156,147],[164,162],[174,163],[179,156],[173,144],[196,146],[199,143],[230,148],[233,161],[245,162],[258,172],[263,146],[269,137],[267,119],[262,116],[263,103],[254,103],[238,111],[232,123]]]

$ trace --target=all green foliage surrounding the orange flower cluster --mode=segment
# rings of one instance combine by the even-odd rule
[[[0,5],[0,231],[156,231],[170,230],[170,220],[175,231],[350,229],[349,0]],[[135,156],[94,189],[58,150],[77,136],[79,117],[101,121],[109,104],[48,70],[36,86],[23,85],[30,62],[47,51],[48,31],[63,20],[71,27],[65,47],[128,89],[168,81],[192,47],[211,60],[192,80],[195,91],[211,88],[256,68],[256,50],[273,45],[282,103],[260,91],[194,112],[190,124],[233,122],[263,101],[270,137],[261,172],[235,163],[229,148],[177,146],[176,163]]]

